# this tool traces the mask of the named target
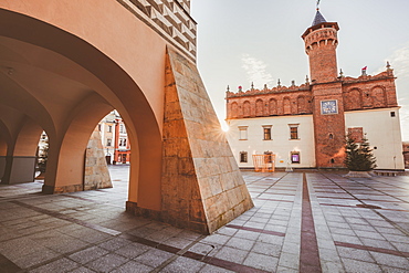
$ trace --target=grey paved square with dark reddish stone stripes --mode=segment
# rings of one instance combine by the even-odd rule
[[[255,207],[204,237],[124,212],[113,189],[0,186],[0,272],[409,272],[409,177],[245,171]]]

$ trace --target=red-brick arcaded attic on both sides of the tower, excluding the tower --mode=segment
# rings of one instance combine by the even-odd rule
[[[398,106],[391,69],[375,76],[337,77],[344,111],[361,111]],[[314,84],[251,88],[227,92],[227,118],[313,114]],[[338,88],[338,87],[337,87]]]

